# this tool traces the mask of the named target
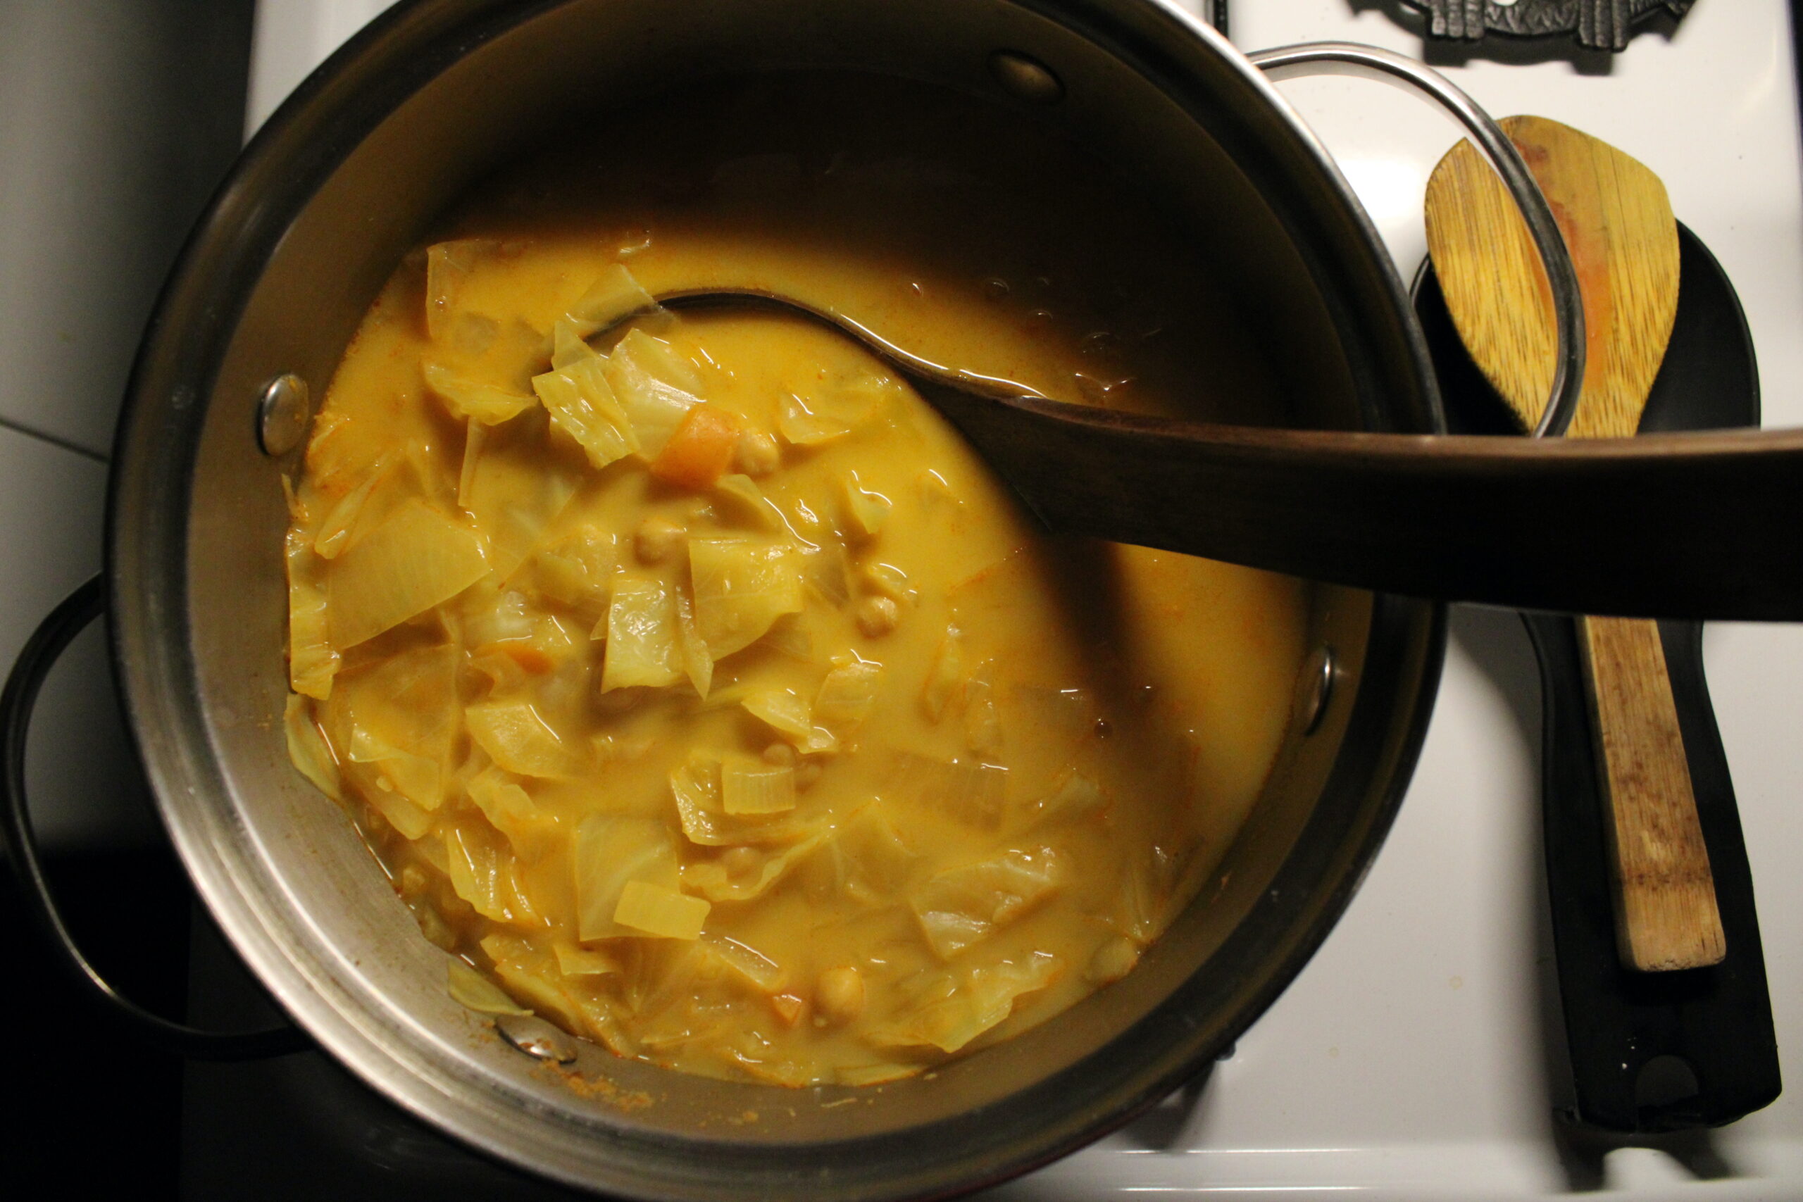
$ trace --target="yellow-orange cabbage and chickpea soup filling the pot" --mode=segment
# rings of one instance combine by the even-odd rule
[[[874,1083],[1130,971],[1271,769],[1304,586],[1035,528],[889,366],[1275,411],[1206,263],[1022,117],[723,83],[498,173],[388,281],[288,532],[294,760],[467,1006]]]

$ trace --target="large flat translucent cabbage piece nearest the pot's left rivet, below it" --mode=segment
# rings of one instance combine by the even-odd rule
[[[375,638],[485,575],[489,557],[472,530],[422,501],[407,501],[332,560],[332,645]]]

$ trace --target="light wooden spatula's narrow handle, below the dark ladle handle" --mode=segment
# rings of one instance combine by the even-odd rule
[[[1720,964],[1727,941],[1659,625],[1637,618],[1579,625],[1621,962],[1641,971]]]

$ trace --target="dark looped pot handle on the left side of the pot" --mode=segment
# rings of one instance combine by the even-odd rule
[[[5,842],[18,872],[25,914],[69,970],[78,989],[92,998],[101,1013],[117,1025],[162,1051],[191,1060],[261,1060],[285,1056],[310,1047],[299,1027],[270,1031],[198,1031],[151,1015],[114,989],[76,946],[56,912],[43,863],[38,860],[38,842],[25,806],[25,735],[31,732],[31,714],[38,705],[38,690],[69,643],[106,607],[106,587],[94,577],[50,611],[25,649],[18,654],[0,692],[0,793],[5,804]]]

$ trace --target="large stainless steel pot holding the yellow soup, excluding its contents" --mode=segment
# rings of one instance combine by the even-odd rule
[[[1049,68],[1060,97],[997,70],[997,50]],[[781,1090],[584,1047],[577,1067],[618,1094],[579,1096],[451,1002],[444,953],[288,766],[278,474],[292,460],[260,436],[281,449],[294,389],[269,386],[323,391],[402,252],[521,132],[788,67],[903,74],[1033,112],[1163,198],[1255,324],[1280,332],[1293,409],[1273,418],[1437,427],[1405,288],[1323,150],[1246,58],[1149,0],[422,0],[310,77],[202,218],[135,366],[108,510],[132,730],[195,887],[307,1034],[445,1132],[622,1197],[947,1197],[1150,1106],[1253,1022],[1343,910],[1441,665],[1442,607],[1318,587],[1277,769],[1201,899],[1125,980],[930,1076]],[[622,1106],[635,1092],[651,1105]]]

